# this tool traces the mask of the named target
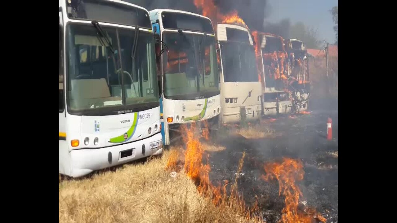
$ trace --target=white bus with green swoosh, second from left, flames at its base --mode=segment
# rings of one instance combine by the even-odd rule
[[[211,20],[179,10],[149,12],[156,37],[163,142],[181,136],[181,125],[220,125],[219,70]]]

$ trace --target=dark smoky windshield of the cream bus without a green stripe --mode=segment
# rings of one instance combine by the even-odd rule
[[[257,82],[254,47],[241,42],[222,42],[222,64],[225,82]]]

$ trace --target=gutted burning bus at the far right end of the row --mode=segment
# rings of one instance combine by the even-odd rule
[[[288,61],[291,66],[289,74],[289,90],[293,98],[293,110],[300,112],[307,110],[310,82],[308,53],[304,42],[297,39],[285,40]]]

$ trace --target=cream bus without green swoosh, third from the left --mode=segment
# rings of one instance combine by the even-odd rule
[[[262,88],[249,31],[238,25],[218,24],[222,73],[222,123],[260,118]]]

